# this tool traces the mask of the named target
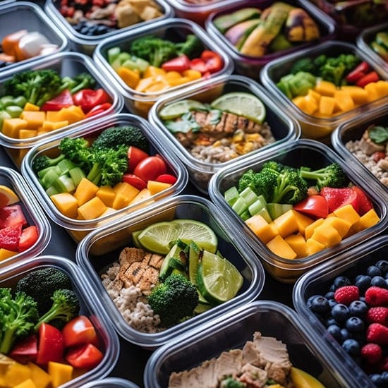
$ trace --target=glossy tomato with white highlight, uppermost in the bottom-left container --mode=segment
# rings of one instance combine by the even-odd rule
[[[62,329],[62,334],[66,348],[81,344],[98,345],[96,329],[85,315],[78,315],[67,322]]]

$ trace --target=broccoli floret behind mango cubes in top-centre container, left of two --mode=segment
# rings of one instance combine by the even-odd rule
[[[152,66],[160,67],[162,63],[177,56],[174,42],[153,35],[139,37],[133,40],[131,54],[150,62]]]

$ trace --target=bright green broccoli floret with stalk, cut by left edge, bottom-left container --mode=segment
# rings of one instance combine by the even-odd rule
[[[0,289],[0,353],[7,354],[16,339],[27,336],[38,320],[37,302],[24,292],[12,296]]]

